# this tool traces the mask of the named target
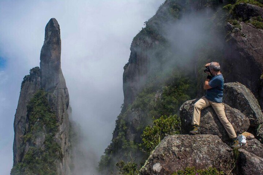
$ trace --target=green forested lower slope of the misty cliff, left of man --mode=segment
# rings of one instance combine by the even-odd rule
[[[144,157],[144,161],[148,153],[144,153],[139,149],[139,144],[142,143],[141,133],[147,125],[153,124],[153,116],[156,119],[163,116],[161,120],[158,120],[160,122],[170,121],[176,123],[177,117],[176,119],[169,117],[166,119],[164,115],[175,115],[183,102],[195,96],[196,87],[194,81],[194,77],[193,79],[186,78],[178,71],[160,72],[149,78],[147,85],[137,95],[135,101],[127,107],[123,107],[120,115],[117,117],[112,142],[105,149],[105,154],[100,158],[99,170],[103,171],[105,167],[114,167],[116,164],[113,160],[114,157],[117,156],[118,159],[123,160],[129,152],[139,154]],[[134,117],[139,117],[140,121],[138,124],[131,126],[130,122]],[[132,127],[129,130],[133,129],[136,132],[134,140],[127,140],[128,127]],[[169,127],[172,129],[171,125]],[[160,135],[160,137],[163,136]],[[122,153],[121,155],[118,154],[120,152]],[[128,159],[128,161],[130,160]]]

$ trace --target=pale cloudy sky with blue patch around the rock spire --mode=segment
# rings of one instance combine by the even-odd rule
[[[164,0],[0,1],[0,174],[13,163],[13,122],[20,85],[39,66],[44,30],[56,18],[61,68],[73,118],[97,162],[110,143],[123,103],[123,66],[132,38]]]

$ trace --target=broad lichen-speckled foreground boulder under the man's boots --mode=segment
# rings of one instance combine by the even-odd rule
[[[151,153],[140,175],[172,174],[186,167],[230,172],[232,150],[215,135],[170,135]]]

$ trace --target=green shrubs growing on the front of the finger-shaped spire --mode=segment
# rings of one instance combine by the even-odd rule
[[[63,154],[61,147],[54,140],[58,124],[46,96],[46,92],[39,90],[27,105],[29,130],[24,135],[20,147],[21,151],[25,151],[25,145],[29,144],[29,150],[22,161],[13,166],[11,175],[57,174],[56,162],[63,158]],[[37,138],[44,139],[43,145],[36,145]]]

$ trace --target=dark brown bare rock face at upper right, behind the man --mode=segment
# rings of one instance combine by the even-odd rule
[[[262,103],[261,74],[263,70],[263,30],[250,21],[263,16],[263,9],[256,5],[240,3],[234,11],[239,18],[239,28],[228,23],[225,26],[227,41],[225,45],[224,70],[226,82],[238,81],[247,86]]]

